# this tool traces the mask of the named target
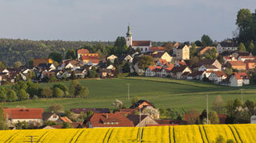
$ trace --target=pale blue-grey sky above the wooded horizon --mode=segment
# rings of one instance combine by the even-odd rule
[[[0,0],[0,38],[114,41],[128,24],[134,40],[221,41],[237,11],[255,0]]]

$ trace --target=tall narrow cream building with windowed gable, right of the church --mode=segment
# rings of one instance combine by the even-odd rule
[[[179,45],[176,49],[176,60],[187,60],[189,57],[189,47],[187,45]]]

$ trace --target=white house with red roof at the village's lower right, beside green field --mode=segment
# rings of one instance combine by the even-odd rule
[[[243,84],[250,84],[250,78],[246,72],[234,72],[229,78],[230,86],[241,87]]]

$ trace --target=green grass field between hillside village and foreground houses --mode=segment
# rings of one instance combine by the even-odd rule
[[[220,86],[216,84],[205,84],[199,81],[173,80],[149,77],[129,77],[123,79],[107,80],[79,80],[79,82],[89,87],[90,99],[39,99],[25,100],[14,103],[2,103],[3,107],[13,108],[22,105],[27,108],[44,108],[57,103],[69,108],[111,108],[115,107],[111,103],[115,99],[122,100],[126,107],[131,105],[133,96],[140,99],[149,100],[157,108],[206,108],[206,94],[209,97],[209,105],[217,95],[227,100],[235,98],[241,99],[240,88]],[[51,84],[40,84],[42,87],[52,86]],[[69,82],[63,82],[69,86]],[[130,100],[128,100],[128,86],[130,85]],[[256,101],[256,86],[249,85],[242,87],[243,100]]]

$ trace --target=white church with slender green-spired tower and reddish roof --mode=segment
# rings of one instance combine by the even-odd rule
[[[149,47],[152,47],[152,42],[150,40],[147,41],[133,41],[132,40],[132,32],[131,27],[128,26],[128,31],[126,33],[126,45],[131,46],[133,49],[140,48],[141,52],[149,51]]]

